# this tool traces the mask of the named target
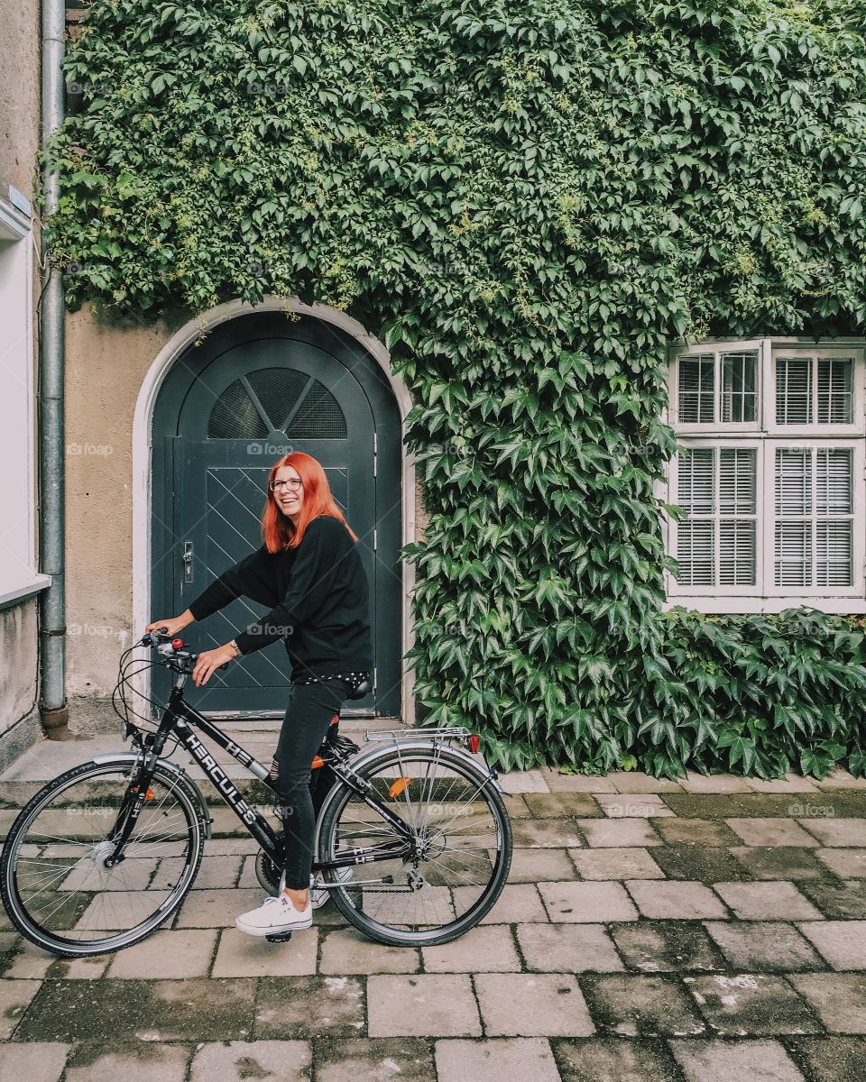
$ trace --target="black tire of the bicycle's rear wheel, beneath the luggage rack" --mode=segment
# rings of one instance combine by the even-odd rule
[[[337,879],[336,870],[326,869],[324,871],[324,879],[326,883],[334,884],[330,894],[338,909],[351,924],[353,924],[359,932],[364,933],[364,935],[370,939],[389,947],[431,947],[437,944],[450,942],[452,939],[457,939],[459,936],[464,935],[470,928],[474,927],[496,903],[502,893],[502,888],[506,885],[511,867],[513,847],[511,822],[509,820],[508,812],[502,797],[486,773],[481,770],[471,760],[468,760],[465,755],[452,752],[448,748],[441,747],[435,749],[430,744],[414,744],[402,748],[399,752],[397,752],[396,749],[388,749],[386,751],[383,751],[382,754],[375,756],[368,763],[354,767],[354,769],[360,778],[370,782],[372,782],[378,775],[379,778],[376,780],[378,781],[380,788],[382,788],[382,779],[386,779],[393,775],[396,775],[398,778],[403,777],[403,771],[406,768],[407,762],[428,763],[435,768],[454,770],[460,778],[463,779],[463,781],[468,782],[470,787],[474,787],[475,797],[473,797],[473,802],[477,803],[477,801],[481,801],[488,808],[494,823],[494,831],[490,831],[489,833],[491,836],[495,834],[497,841],[496,859],[491,869],[489,882],[486,883],[481,892],[481,895],[461,916],[456,916],[454,920],[439,925],[427,926],[422,929],[411,931],[394,927],[393,923],[388,924],[381,920],[376,920],[365,912],[363,908],[363,890],[360,890],[362,908],[359,909],[357,900],[352,900],[353,895],[356,896],[359,888],[353,886],[352,880],[347,883],[340,883]],[[422,784],[424,782],[422,782]],[[445,783],[443,782],[443,784]],[[409,783],[409,786],[401,792],[408,793],[410,788],[411,783]],[[331,793],[325,803],[322,814],[322,824],[317,835],[318,855],[319,860],[323,862],[334,859],[339,853],[341,842],[341,817],[345,813],[346,807],[350,806],[350,802],[353,797],[357,800],[356,795],[344,782],[339,782],[331,790]],[[358,801],[358,805],[360,805],[360,803],[362,802]],[[380,817],[380,823],[384,822],[385,820]],[[377,829],[381,831],[382,828],[379,826]],[[362,833],[364,831],[362,830]],[[463,850],[455,849],[452,852]],[[472,859],[478,858],[473,857]],[[395,861],[392,861],[391,863],[394,862]],[[428,861],[428,863],[430,863],[430,861]],[[363,863],[355,866],[354,872],[357,873],[358,869],[362,869],[365,870],[366,873],[366,870],[376,868],[376,862]],[[442,868],[437,869],[437,871],[439,872],[441,878],[443,878]],[[402,884],[397,884],[397,886],[401,890],[405,889]],[[424,886],[427,886],[427,884],[424,884]],[[447,883],[446,888],[452,889],[452,887],[449,887]],[[424,887],[421,887],[420,889],[423,890]],[[465,889],[465,887],[463,887],[463,889]],[[388,888],[377,887],[376,892],[388,893]],[[454,894],[451,894],[451,898],[454,898]],[[454,905],[452,908],[456,912],[456,905]]]

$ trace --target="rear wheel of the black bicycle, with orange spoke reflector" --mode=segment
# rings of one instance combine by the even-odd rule
[[[336,905],[389,946],[463,935],[494,906],[511,867],[511,823],[499,792],[471,760],[442,745],[386,749],[356,770],[410,839],[346,786],[336,789],[323,812],[319,860],[327,866],[349,850],[367,857],[344,881],[325,868]],[[394,857],[369,859],[386,847]]]

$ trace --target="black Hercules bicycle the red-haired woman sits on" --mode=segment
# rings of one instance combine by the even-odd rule
[[[130,718],[149,721],[126,696],[134,663],[128,659],[141,646],[156,651],[145,668],[162,664],[176,674],[155,731]],[[281,832],[238,792],[194,729],[276,799],[268,769],[184,699],[197,657],[182,639],[156,632],[129,647],[113,703],[134,750],[67,770],[15,819],[0,856],[0,897],[15,927],[44,950],[67,958],[121,950],[182,906],[212,819],[195,779],[168,757],[179,748],[259,843],[257,878],[276,894]],[[354,697],[368,690],[362,686]],[[496,771],[473,757],[478,737],[462,727],[366,736],[369,747],[360,750],[339,734],[336,714],[311,764],[317,888],[375,941],[449,942],[491,909],[508,879],[512,832]]]

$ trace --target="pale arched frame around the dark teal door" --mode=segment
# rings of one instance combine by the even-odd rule
[[[153,512],[153,477],[150,473],[153,420],[157,395],[178,358],[183,352],[209,331],[237,316],[266,312],[294,312],[310,316],[341,330],[355,339],[381,368],[397,403],[401,418],[401,479],[402,513],[401,545],[416,539],[416,459],[405,444],[406,415],[412,403],[409,392],[391,368],[388,349],[375,335],[344,312],[324,304],[304,304],[297,298],[265,298],[261,304],[229,301],[184,324],[157,354],[139,390],[132,425],[132,630],[137,638],[152,619],[150,598],[150,530]],[[411,592],[415,586],[415,567],[401,563],[401,717],[404,724],[415,724],[414,674],[406,661],[415,635],[411,626]],[[174,615],[174,613],[171,613]],[[135,682],[137,690],[146,691],[149,683],[145,672]]]

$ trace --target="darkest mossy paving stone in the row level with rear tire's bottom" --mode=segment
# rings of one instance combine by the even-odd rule
[[[615,924],[611,935],[626,963],[643,973],[724,968],[721,953],[696,921]]]

